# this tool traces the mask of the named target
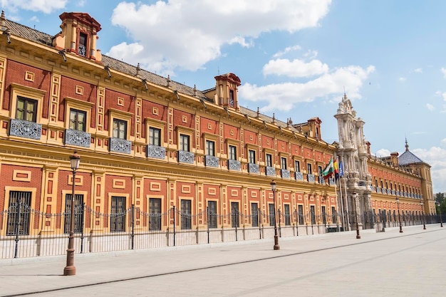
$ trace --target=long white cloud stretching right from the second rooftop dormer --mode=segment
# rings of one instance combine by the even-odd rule
[[[328,71],[306,83],[276,83],[260,87],[245,83],[239,88],[239,98],[252,102],[266,101],[268,105],[261,109],[263,113],[274,109],[286,111],[297,103],[313,102],[316,98],[342,94],[343,86],[348,91],[348,98],[361,98],[359,88],[373,71],[375,71],[373,66],[366,69],[347,66]],[[278,102],[280,104],[277,104]]]

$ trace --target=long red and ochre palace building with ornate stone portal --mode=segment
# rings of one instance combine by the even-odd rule
[[[396,197],[407,221],[420,202],[435,212],[430,166],[408,146],[399,158],[371,156],[346,96],[335,115],[340,141],[328,143],[317,117],[294,124],[241,107],[234,73],[197,90],[102,55],[100,24],[88,14],[60,18],[51,36],[0,17],[1,240],[66,234],[73,196],[88,251],[100,251],[94,234],[129,231],[161,231],[157,246],[170,246],[172,230],[197,244],[206,228],[207,242],[269,238],[276,222],[280,236],[355,220],[371,229],[372,214],[395,222]],[[340,186],[322,177],[335,158]],[[209,228],[220,235],[209,239]]]

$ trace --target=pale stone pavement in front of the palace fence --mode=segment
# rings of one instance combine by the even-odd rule
[[[0,260],[0,296],[446,296],[440,224]]]

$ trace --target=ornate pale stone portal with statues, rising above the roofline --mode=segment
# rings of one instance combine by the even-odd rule
[[[369,226],[364,220],[370,218],[372,212],[370,199],[372,176],[367,166],[367,144],[363,133],[365,122],[361,118],[356,118],[356,111],[353,110],[346,94],[339,103],[338,112],[334,117],[338,120],[338,162],[343,163],[343,177],[339,179],[342,193],[338,193],[340,198],[338,207],[344,209],[344,213],[350,214],[347,217],[352,218],[348,220],[350,222],[345,222],[346,225],[353,226],[358,218],[358,224],[364,223],[365,226]],[[353,200],[353,193],[358,194],[356,201]]]

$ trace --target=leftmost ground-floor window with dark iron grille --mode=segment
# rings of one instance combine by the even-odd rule
[[[29,235],[31,192],[9,192],[6,235]]]

